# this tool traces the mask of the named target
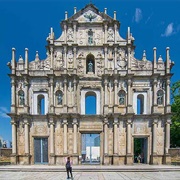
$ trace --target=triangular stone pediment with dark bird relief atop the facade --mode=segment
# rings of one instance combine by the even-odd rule
[[[85,8],[78,11],[68,20],[69,21],[75,20],[78,21],[79,23],[85,23],[85,22],[103,22],[104,20],[113,21],[113,18],[111,18],[105,13],[99,12],[99,10],[93,4],[88,4]]]

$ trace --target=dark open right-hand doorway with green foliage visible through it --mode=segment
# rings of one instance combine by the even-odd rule
[[[147,138],[134,138],[134,163],[147,164]]]

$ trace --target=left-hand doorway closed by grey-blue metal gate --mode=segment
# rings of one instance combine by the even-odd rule
[[[34,163],[48,163],[48,139],[34,138]]]

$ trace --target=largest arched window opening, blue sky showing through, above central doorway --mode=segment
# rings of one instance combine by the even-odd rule
[[[96,94],[94,92],[86,93],[85,114],[96,114]]]

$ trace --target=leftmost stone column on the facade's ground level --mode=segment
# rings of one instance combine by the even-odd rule
[[[17,164],[17,127],[15,119],[11,120],[12,125],[12,155],[11,155],[11,164]]]

